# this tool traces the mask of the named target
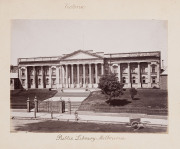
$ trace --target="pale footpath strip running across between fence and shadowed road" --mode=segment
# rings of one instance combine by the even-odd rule
[[[11,110],[11,119],[34,119],[34,120],[58,120],[69,122],[87,122],[87,123],[111,123],[111,124],[129,124],[131,119],[139,119],[142,124],[152,127],[167,127],[167,116],[134,114],[134,113],[93,113],[81,112],[74,113],[36,113],[26,112],[25,110]]]

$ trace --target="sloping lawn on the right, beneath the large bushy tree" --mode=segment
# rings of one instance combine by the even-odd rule
[[[108,98],[101,93],[95,91],[84,100],[79,108],[80,111],[96,111],[96,112],[136,112],[167,115],[167,91],[160,89],[139,89],[135,99],[130,98],[129,90],[126,89],[120,98],[113,99],[108,102]],[[122,111],[122,112],[123,112]]]

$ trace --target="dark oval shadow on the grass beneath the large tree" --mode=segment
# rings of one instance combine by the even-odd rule
[[[131,101],[128,101],[127,99],[113,99],[106,101],[106,103],[108,103],[111,106],[125,106],[131,103]]]

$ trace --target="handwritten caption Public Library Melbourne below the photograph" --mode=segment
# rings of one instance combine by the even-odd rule
[[[115,141],[115,140],[125,140],[124,137],[114,137],[111,135],[100,135],[100,136],[96,136],[96,137],[92,137],[92,136],[86,136],[86,135],[77,135],[77,136],[70,136],[70,135],[62,135],[59,134],[56,137],[56,140],[59,141]]]

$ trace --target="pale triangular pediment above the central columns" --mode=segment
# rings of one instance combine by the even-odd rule
[[[79,50],[79,51],[76,51],[76,52],[73,52],[71,54],[64,56],[62,59],[63,60],[74,60],[74,59],[97,59],[97,58],[101,58],[101,57],[94,53],[91,54],[89,52]]]

